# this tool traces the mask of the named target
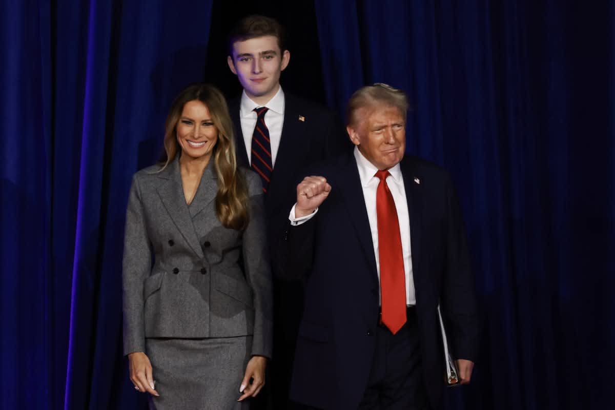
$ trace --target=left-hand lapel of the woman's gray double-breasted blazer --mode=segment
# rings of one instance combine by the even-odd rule
[[[167,212],[177,229],[181,232],[186,242],[190,245],[194,253],[199,258],[203,258],[203,251],[200,248],[199,239],[194,231],[192,217],[186,205],[186,197],[181,185],[180,162],[173,160],[167,168],[158,174],[158,178],[167,179],[167,182],[158,187],[158,195],[167,208]]]

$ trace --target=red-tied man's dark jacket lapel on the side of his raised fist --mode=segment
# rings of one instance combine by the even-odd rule
[[[337,186],[332,189],[339,189],[343,195],[348,215],[352,220],[352,224],[357,231],[357,237],[363,248],[363,254],[367,258],[368,266],[370,266],[373,280],[378,285],[378,275],[376,272],[376,257],[374,255],[374,245],[371,240],[370,220],[367,216],[367,208],[365,208],[365,198],[363,197],[363,187],[361,186],[361,180],[359,178],[359,170],[357,169],[357,163],[354,159],[352,151],[349,156],[344,157],[343,165],[339,172],[339,181]]]

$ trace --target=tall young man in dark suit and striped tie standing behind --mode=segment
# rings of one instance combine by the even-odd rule
[[[237,160],[261,176],[270,240],[287,221],[300,170],[349,146],[333,112],[282,90],[280,74],[289,60],[282,26],[272,18],[246,17],[229,35],[228,65],[244,87],[241,97],[229,102]],[[273,408],[287,409],[303,285],[276,279],[287,275],[276,270],[275,263],[272,266],[275,327],[270,387]]]

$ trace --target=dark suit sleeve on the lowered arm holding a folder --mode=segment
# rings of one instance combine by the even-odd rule
[[[470,267],[461,208],[450,178],[447,178],[448,221],[446,267],[442,307],[453,340],[455,358],[474,361],[478,349],[478,316],[474,275]]]

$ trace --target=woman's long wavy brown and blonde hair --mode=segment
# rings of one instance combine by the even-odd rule
[[[181,154],[177,142],[177,123],[188,101],[200,101],[209,110],[213,125],[218,129],[218,141],[213,147],[213,167],[218,176],[216,216],[224,227],[243,230],[248,224],[248,188],[245,178],[237,170],[235,138],[229,109],[220,90],[210,84],[191,84],[175,97],[164,126],[164,152],[161,171]]]

